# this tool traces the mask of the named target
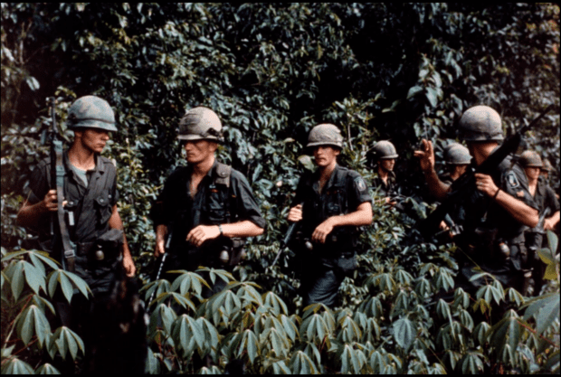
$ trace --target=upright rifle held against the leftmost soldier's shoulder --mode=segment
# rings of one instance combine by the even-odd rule
[[[62,161],[62,141],[58,139],[59,131],[56,127],[56,99],[51,97],[50,101],[52,117],[52,128],[49,132],[49,140],[51,142],[51,189],[56,190],[57,201],[56,221],[54,216],[51,217],[52,250],[55,250],[55,240],[58,236],[60,236],[62,243],[62,269],[73,272],[75,258],[74,245],[70,240],[70,233],[66,227],[66,221],[64,220],[64,208],[62,207],[62,201],[64,200],[64,163]],[[69,215],[70,225],[73,225],[73,221],[74,219]]]

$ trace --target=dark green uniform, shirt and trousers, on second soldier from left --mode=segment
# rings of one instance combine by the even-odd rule
[[[231,170],[228,182],[217,183],[218,168],[222,164],[214,162],[213,167],[199,184],[195,198],[189,192],[192,168],[177,168],[166,180],[164,190],[157,199],[158,208],[153,212],[154,225],[164,224],[173,231],[170,242],[170,256],[163,270],[195,270],[198,266],[226,269],[239,261],[238,254],[229,262],[219,257],[222,250],[232,254],[233,240],[221,236],[207,240],[200,248],[195,248],[185,240],[189,231],[198,225],[219,225],[229,222],[249,220],[264,228],[259,205],[255,201],[247,179],[235,169]],[[225,166],[225,165],[222,165]]]

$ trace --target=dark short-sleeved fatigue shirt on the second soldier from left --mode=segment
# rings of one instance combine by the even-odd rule
[[[164,190],[158,196],[157,209],[152,213],[154,225],[164,224],[173,229],[173,252],[185,249],[195,251],[195,247],[185,238],[198,225],[249,220],[260,228],[265,227],[265,220],[247,179],[232,169],[230,188],[224,190],[219,187],[222,184],[214,184],[216,165],[214,161],[213,167],[201,180],[195,198],[190,193],[192,166],[177,168],[167,178]]]

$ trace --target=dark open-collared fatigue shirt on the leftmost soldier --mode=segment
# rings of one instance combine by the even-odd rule
[[[64,200],[67,201],[64,210],[67,212],[66,224],[73,242],[95,240],[108,231],[113,206],[119,200],[115,165],[108,158],[99,155],[95,156],[95,161],[95,169],[87,172],[89,184],[86,187],[71,169],[68,152],[63,155]],[[31,175],[28,202],[35,204],[43,201],[50,187],[51,159],[45,158]],[[40,240],[50,240],[50,216],[51,213],[45,213],[44,220],[39,221]]]

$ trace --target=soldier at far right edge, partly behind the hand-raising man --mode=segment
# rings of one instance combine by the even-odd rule
[[[537,250],[547,247],[544,231],[553,231],[559,222],[559,201],[553,189],[540,178],[540,170],[543,168],[543,164],[536,152],[528,150],[520,155],[520,165],[528,176],[529,192],[537,203],[540,218],[543,218],[543,223],[539,223],[537,227],[526,231],[526,246],[534,268],[532,273],[535,283],[534,295],[538,295],[544,284],[543,277],[546,272],[546,265],[539,259]],[[546,216],[547,210],[548,216]]]

